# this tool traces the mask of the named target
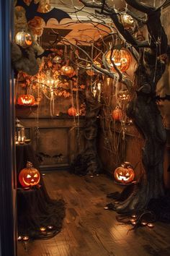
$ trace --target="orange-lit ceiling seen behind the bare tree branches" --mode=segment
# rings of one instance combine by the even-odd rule
[[[113,6],[113,1],[109,0],[109,4]],[[124,0],[114,0],[115,8],[125,7]],[[92,41],[96,41],[110,33],[110,29],[104,25],[99,25],[97,23],[87,22],[88,15],[94,14],[94,9],[85,8],[84,11],[77,13],[77,17],[81,22],[77,22],[77,17],[75,14],[76,8],[83,7],[83,4],[79,0],[50,0],[50,6],[53,8],[62,9],[67,12],[71,19],[63,19],[58,23],[55,19],[50,19],[47,23],[47,27],[53,27],[56,30],[70,30],[67,35],[65,35],[64,40],[66,43],[80,43],[82,45],[89,45]],[[93,17],[93,21],[95,21]],[[106,19],[106,22],[111,22],[111,20]],[[62,43],[61,40],[59,43]]]

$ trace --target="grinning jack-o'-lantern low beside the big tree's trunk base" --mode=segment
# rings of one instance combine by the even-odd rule
[[[129,162],[122,163],[120,167],[115,169],[114,176],[115,181],[122,184],[133,182],[135,178],[133,166],[131,166]]]

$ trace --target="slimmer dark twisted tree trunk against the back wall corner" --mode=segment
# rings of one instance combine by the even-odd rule
[[[86,116],[84,125],[85,148],[71,164],[72,172],[79,175],[96,175],[101,172],[102,165],[97,153],[97,116],[100,103],[97,97],[86,91]]]

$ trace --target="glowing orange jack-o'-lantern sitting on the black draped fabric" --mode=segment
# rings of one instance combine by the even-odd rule
[[[27,167],[19,172],[19,182],[22,187],[32,187],[40,182],[40,172],[32,166],[31,162],[27,162]]]

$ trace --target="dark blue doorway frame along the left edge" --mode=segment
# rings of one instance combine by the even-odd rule
[[[17,255],[14,77],[11,67],[14,1],[0,0],[0,255]]]

